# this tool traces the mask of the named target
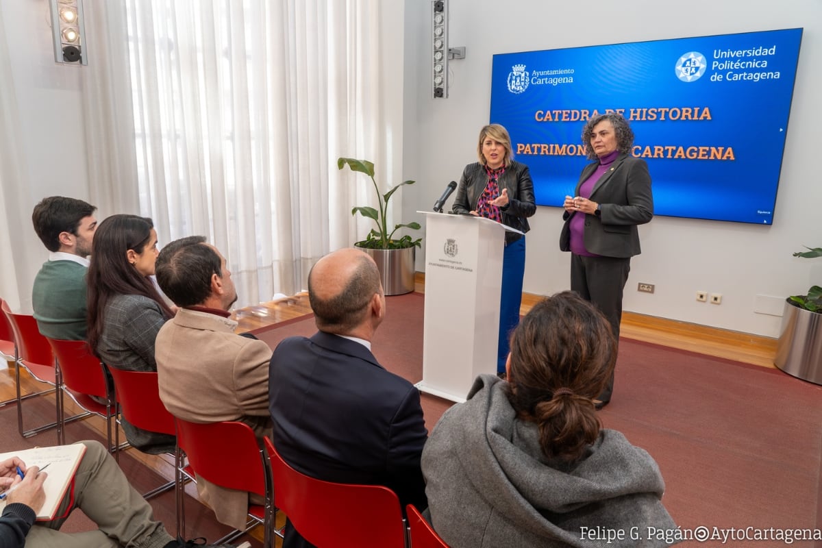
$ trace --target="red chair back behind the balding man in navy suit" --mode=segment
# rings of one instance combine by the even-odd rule
[[[274,481],[274,504],[315,546],[405,548],[405,523],[399,498],[384,486],[317,480],[294,470],[266,437]],[[353,519],[356,509],[362,519]]]

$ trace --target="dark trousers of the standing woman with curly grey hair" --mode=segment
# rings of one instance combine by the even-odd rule
[[[622,291],[628,281],[630,257],[570,256],[570,288],[580,297],[593,302],[611,324],[619,345],[619,325],[622,320]],[[597,399],[611,401],[614,375]]]

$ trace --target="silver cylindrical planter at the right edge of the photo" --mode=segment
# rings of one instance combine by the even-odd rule
[[[789,375],[822,385],[822,314],[786,300],[774,365]]]

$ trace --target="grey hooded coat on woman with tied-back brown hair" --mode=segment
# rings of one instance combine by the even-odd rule
[[[546,458],[493,375],[443,414],[423,449],[433,527],[453,548],[670,546],[657,463],[603,430],[575,463]],[[610,542],[608,542],[610,541]]]

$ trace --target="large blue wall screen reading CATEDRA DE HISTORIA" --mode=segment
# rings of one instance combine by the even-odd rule
[[[648,162],[654,213],[771,224],[802,29],[493,56],[491,122],[539,205],[573,196],[584,121],[617,111]]]

